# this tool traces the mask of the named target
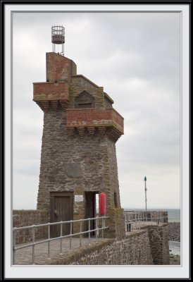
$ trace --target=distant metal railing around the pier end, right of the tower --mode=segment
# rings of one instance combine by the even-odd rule
[[[126,232],[140,229],[142,226],[165,222],[164,212],[124,212],[124,216]]]

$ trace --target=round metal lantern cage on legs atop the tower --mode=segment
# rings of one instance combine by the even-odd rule
[[[53,52],[56,53],[56,44],[61,45],[61,52],[58,51],[58,54],[64,55],[65,29],[63,25],[53,25],[51,27],[51,42]]]

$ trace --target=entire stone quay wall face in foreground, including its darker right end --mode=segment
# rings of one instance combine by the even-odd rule
[[[61,265],[153,265],[169,262],[168,224],[145,226],[125,238],[103,239],[50,259]]]

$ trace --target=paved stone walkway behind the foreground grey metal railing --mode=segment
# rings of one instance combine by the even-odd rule
[[[100,239],[98,239],[100,240]],[[90,244],[96,242],[96,238],[90,238]],[[54,240],[50,242],[50,256],[58,255],[60,253],[61,240]],[[18,244],[16,247],[26,244]],[[89,245],[88,238],[82,238],[82,247]],[[80,247],[80,238],[72,238],[72,250]],[[63,238],[62,240],[63,254],[70,251],[70,239]],[[46,262],[48,260],[48,243],[35,245],[35,264],[39,262]],[[32,247],[25,247],[15,251],[15,264],[14,265],[29,265],[32,264]]]

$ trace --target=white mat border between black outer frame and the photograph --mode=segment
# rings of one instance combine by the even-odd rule
[[[12,22],[13,13],[56,11],[175,12],[181,14],[181,266],[11,266]],[[5,278],[189,278],[189,5],[37,5],[5,6]],[[75,269],[74,269],[75,268]]]

